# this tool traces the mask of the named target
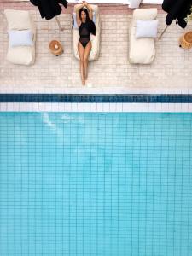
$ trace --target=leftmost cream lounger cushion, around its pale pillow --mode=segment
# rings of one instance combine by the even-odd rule
[[[31,65],[35,61],[36,28],[28,11],[5,9],[9,30],[31,30],[32,46],[9,45],[7,60],[13,64]]]

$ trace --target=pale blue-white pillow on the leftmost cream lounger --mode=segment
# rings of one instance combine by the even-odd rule
[[[9,30],[9,46],[32,46],[31,30]]]

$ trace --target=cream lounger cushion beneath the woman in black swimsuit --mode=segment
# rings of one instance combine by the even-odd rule
[[[74,12],[78,8],[79,4],[74,6]],[[90,50],[89,61],[96,61],[99,57],[100,52],[100,16],[98,6],[95,4],[91,4],[93,12],[96,13],[96,36],[90,34],[90,41],[92,44],[92,48]],[[79,52],[78,52],[78,43],[79,43],[79,30],[73,29],[73,53],[74,56],[79,60]]]

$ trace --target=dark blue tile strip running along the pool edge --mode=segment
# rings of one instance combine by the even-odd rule
[[[192,103],[192,94],[0,94],[0,102]]]

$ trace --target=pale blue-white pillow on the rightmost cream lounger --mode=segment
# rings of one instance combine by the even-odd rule
[[[156,38],[158,20],[137,20],[136,38]]]

